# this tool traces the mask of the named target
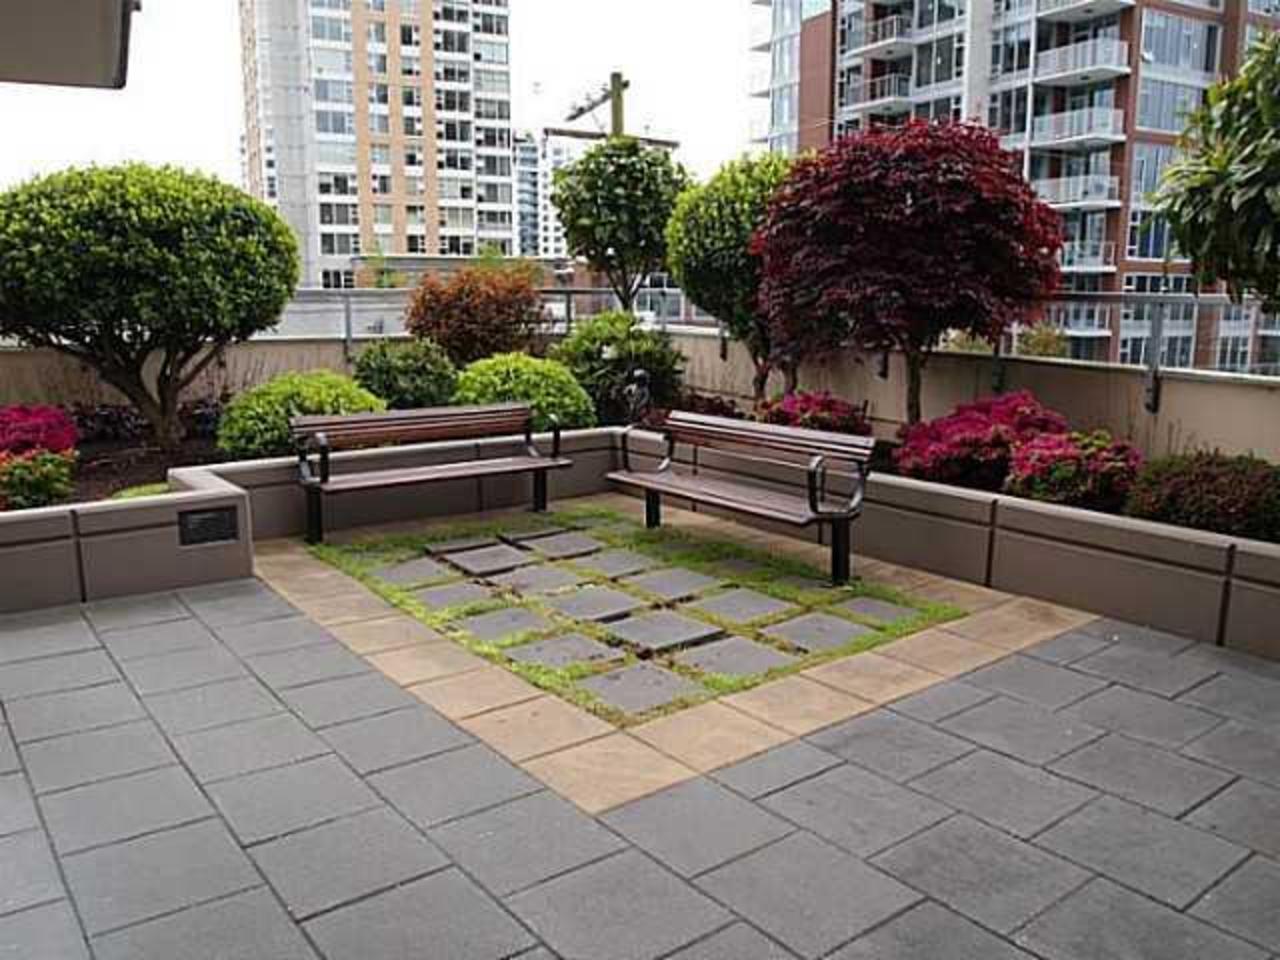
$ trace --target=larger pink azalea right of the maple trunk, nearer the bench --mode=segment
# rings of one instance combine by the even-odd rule
[[[908,428],[895,462],[904,476],[1001,490],[1014,448],[1044,434],[1066,434],[1066,419],[1029,390],[964,403],[955,412]]]

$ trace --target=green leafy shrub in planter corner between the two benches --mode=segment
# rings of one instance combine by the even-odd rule
[[[658,330],[645,330],[630,314],[608,312],[575,328],[552,356],[570,369],[595,401],[603,424],[627,420],[626,388],[636,370],[649,374],[654,407],[676,406],[682,388],[685,357]]]

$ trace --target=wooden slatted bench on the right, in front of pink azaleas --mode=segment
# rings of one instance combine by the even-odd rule
[[[631,468],[628,430],[622,436],[622,470],[609,474],[609,480],[622,486],[644,490],[646,526],[662,524],[663,495],[797,527],[826,524],[831,527],[831,580],[835,584],[849,582],[851,527],[861,513],[874,439],[684,412],[671,413],[663,433],[667,435],[667,456],[657,470]],[[744,466],[754,462],[804,467],[808,471],[808,495],[778,492],[736,477],[677,474],[673,468],[677,443],[719,451]],[[829,466],[844,466],[847,471],[851,483],[849,497],[828,495]],[[717,468],[717,472],[726,470]]]

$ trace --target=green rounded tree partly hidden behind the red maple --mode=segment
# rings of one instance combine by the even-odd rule
[[[681,289],[751,355],[756,404],[764,402],[773,361],[751,238],[790,169],[777,154],[726,164],[704,186],[680,195],[667,225],[667,260]]]

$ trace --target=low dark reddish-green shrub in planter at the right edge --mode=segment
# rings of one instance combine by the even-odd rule
[[[1222,453],[1153,460],[1126,509],[1142,520],[1280,543],[1280,467]]]

